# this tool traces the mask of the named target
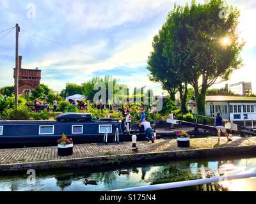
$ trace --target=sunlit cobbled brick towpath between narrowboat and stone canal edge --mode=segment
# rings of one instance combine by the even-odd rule
[[[237,147],[256,145],[256,137],[241,138],[233,136],[232,142],[227,142],[227,139],[221,137],[218,142],[216,137],[212,138],[194,138],[191,139],[189,148],[177,147],[175,139],[156,140],[155,143],[147,143],[145,141],[137,142],[139,149],[138,153],[145,152],[165,152],[186,149],[214,149],[217,147]],[[100,143],[80,144],[74,145],[74,154],[72,156],[60,157],[58,156],[57,147],[30,147],[20,149],[1,149],[0,150],[0,165],[1,164],[15,164],[15,163],[33,163],[38,161],[53,161],[63,159],[79,159],[86,157],[110,156],[122,154],[134,154],[131,150],[131,142],[122,142],[120,144],[109,143],[108,145]]]

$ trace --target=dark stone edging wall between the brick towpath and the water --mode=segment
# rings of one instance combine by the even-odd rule
[[[168,152],[147,152],[138,154],[121,154],[115,156],[82,157],[76,159],[61,159],[51,161],[36,161],[31,163],[0,164],[1,173],[10,171],[56,170],[64,168],[84,168],[92,166],[118,165],[148,161],[166,161],[177,159],[196,159],[212,156],[237,156],[241,154],[255,154],[256,145],[218,147],[213,149],[175,150]]]

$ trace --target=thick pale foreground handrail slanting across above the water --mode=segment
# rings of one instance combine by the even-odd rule
[[[244,173],[237,175],[230,175],[226,177],[213,177],[209,179],[196,179],[196,180],[185,180],[180,182],[172,182],[167,184],[156,184],[150,186],[140,186],[140,187],[130,187],[127,189],[117,189],[114,191],[159,191],[165,189],[173,189],[177,187],[187,187],[187,186],[196,186],[202,184],[210,184],[214,182],[221,182],[225,180],[234,180],[234,179],[246,179],[250,177],[256,177],[256,171],[252,173]]]

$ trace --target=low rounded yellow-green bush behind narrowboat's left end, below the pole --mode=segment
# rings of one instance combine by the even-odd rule
[[[10,108],[4,110],[3,117],[6,117],[8,120],[29,120],[31,112],[26,107]]]

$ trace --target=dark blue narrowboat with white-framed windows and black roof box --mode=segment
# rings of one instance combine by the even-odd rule
[[[61,113],[56,120],[1,120],[0,147],[56,145],[62,134],[72,138],[74,143],[113,142],[118,132],[119,141],[131,141],[125,135],[125,126],[117,119],[93,120],[91,113]],[[143,135],[138,135],[138,139]]]

